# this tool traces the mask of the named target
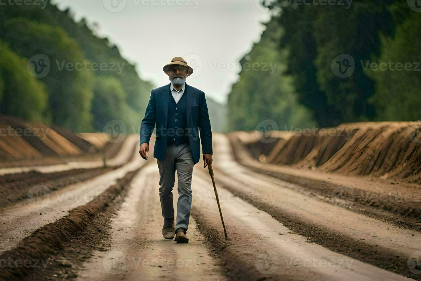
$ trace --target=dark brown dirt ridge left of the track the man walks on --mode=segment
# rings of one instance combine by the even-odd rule
[[[48,257],[62,249],[64,243],[85,230],[92,219],[106,210],[113,203],[113,200],[117,199],[118,202],[116,197],[130,184],[131,179],[139,169],[128,172],[115,185],[109,187],[89,203],[72,209],[67,216],[35,230],[30,236],[24,238],[18,246],[4,252],[0,256],[0,260],[21,262],[48,260]],[[6,263],[6,266],[0,266],[0,279],[21,280],[33,269],[33,267],[25,266],[7,267]]]

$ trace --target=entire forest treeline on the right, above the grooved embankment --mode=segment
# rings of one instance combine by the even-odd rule
[[[319,2],[265,1],[273,16],[240,61],[227,105],[229,129],[254,130],[263,120],[284,130],[421,119],[416,1]],[[268,63],[274,71],[264,69]]]

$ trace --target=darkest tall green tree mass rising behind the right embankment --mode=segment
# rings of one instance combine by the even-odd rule
[[[388,7],[394,1],[354,0],[341,5],[294,5],[282,1],[279,23],[285,29],[281,48],[289,48],[287,73],[294,77],[299,102],[309,108],[320,126],[373,120],[368,101],[375,83],[360,65],[378,54],[379,32],[392,34]],[[341,54],[355,61],[354,74],[339,78],[331,63]]]

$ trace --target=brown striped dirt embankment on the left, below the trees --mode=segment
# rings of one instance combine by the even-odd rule
[[[65,128],[0,115],[2,168],[109,159],[122,144],[109,142],[102,133],[75,134]]]

